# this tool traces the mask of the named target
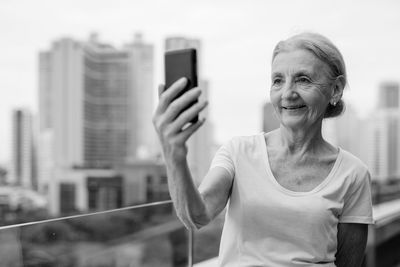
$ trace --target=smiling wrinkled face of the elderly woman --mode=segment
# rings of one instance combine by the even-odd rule
[[[276,55],[270,97],[281,124],[293,130],[320,127],[333,95],[327,74],[328,66],[307,50]]]

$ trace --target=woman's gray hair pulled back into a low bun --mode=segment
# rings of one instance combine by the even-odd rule
[[[343,77],[344,84],[347,85],[346,66],[343,56],[339,49],[325,36],[318,33],[305,32],[294,35],[284,41],[280,41],[274,48],[272,61],[275,57],[287,50],[293,48],[304,49],[313,53],[321,61],[328,66],[328,78],[330,81],[335,81],[338,77]],[[345,104],[342,99],[336,104],[328,104],[324,118],[337,117],[344,112]]]

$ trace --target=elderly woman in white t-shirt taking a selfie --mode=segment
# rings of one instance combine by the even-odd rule
[[[270,98],[280,127],[235,137],[216,153],[199,188],[187,165],[187,125],[207,105],[199,89],[163,92],[153,118],[177,214],[188,228],[207,225],[227,205],[220,266],[360,266],[372,220],[370,174],[321,134],[342,113],[347,83],[341,53],[327,38],[303,33],[274,49]]]

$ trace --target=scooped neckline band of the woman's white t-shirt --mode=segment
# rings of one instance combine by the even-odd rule
[[[290,189],[287,189],[287,188],[283,187],[276,180],[274,174],[272,173],[271,165],[269,164],[267,143],[265,141],[265,135],[268,135],[268,134],[269,133],[261,132],[261,134],[260,134],[260,139],[261,140],[260,141],[262,141],[261,144],[262,144],[262,147],[263,147],[263,154],[264,154],[265,159],[266,159],[266,160],[264,160],[264,162],[266,164],[265,167],[266,167],[266,170],[267,170],[267,173],[268,173],[268,175],[267,175],[268,179],[271,180],[271,182],[274,184],[274,186],[277,189],[279,189],[283,193],[286,193],[286,194],[292,195],[292,196],[306,196],[306,195],[311,195],[313,193],[316,193],[316,192],[320,191],[322,188],[324,188],[329,183],[330,180],[332,180],[332,177],[334,176],[336,170],[339,168],[339,165],[340,165],[340,163],[342,161],[342,149],[340,147],[338,147],[338,150],[339,150],[338,155],[336,157],[335,163],[334,163],[332,169],[330,170],[328,176],[325,177],[325,179],[321,183],[319,183],[316,187],[314,187],[312,190],[297,192],[297,191],[292,191]]]

